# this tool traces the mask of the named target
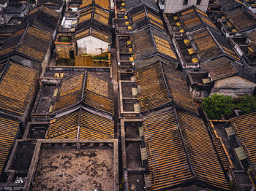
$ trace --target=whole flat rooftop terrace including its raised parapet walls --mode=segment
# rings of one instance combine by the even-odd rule
[[[39,140],[25,190],[118,190],[117,141]]]

